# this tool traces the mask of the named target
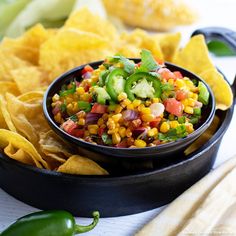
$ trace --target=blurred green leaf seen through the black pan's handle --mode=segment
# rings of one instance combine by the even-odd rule
[[[207,46],[211,53],[219,57],[236,55],[236,51],[233,51],[226,43],[221,41],[210,41]]]

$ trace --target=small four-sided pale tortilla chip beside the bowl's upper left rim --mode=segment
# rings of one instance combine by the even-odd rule
[[[21,93],[37,90],[45,84],[44,74],[35,66],[14,69],[11,75]]]

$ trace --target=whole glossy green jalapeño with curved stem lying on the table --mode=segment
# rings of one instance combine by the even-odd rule
[[[90,225],[80,226],[67,211],[39,211],[19,218],[0,236],[72,236],[92,230],[98,223],[99,212],[93,212],[93,217]]]

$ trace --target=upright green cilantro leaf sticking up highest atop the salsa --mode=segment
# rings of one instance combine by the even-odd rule
[[[159,69],[160,66],[152,56],[152,53],[146,49],[141,52],[141,66],[137,69],[138,71],[149,72]]]

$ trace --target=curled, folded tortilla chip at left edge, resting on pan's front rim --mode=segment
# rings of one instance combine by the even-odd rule
[[[11,145],[11,147],[8,147],[9,145]],[[21,160],[22,151],[20,151],[18,154],[17,154],[17,151],[19,149],[22,149],[25,153],[27,153],[32,158],[35,166],[39,168],[44,167],[48,169],[48,164],[42,159],[42,157],[40,156],[38,151],[35,149],[33,144],[15,132],[5,130],[5,129],[0,129],[0,147],[4,149],[4,152],[6,151],[5,152],[6,155],[10,153],[9,155],[10,157],[13,156],[12,150],[14,148],[15,150],[14,159],[18,158],[18,161]]]

